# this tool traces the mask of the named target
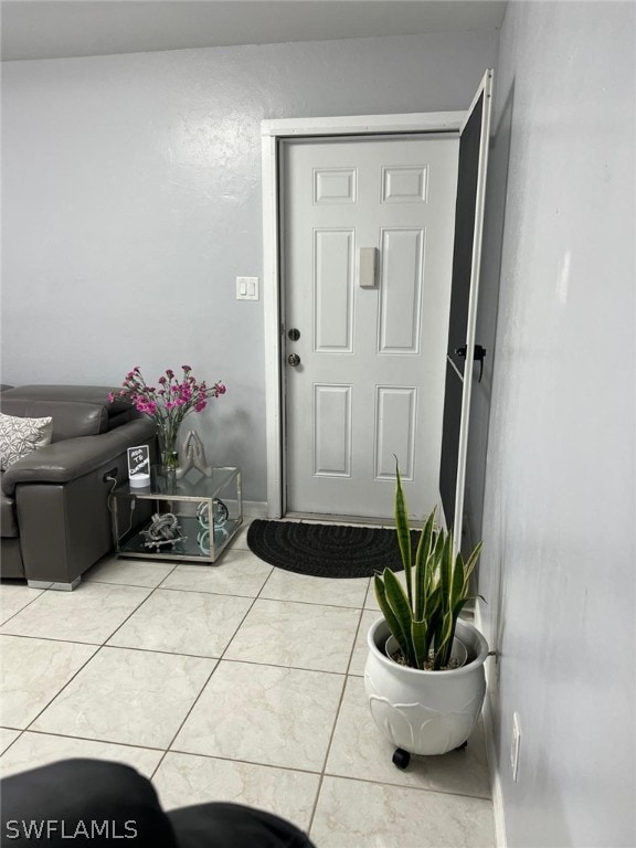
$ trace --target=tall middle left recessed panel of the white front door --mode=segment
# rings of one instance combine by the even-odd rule
[[[353,350],[353,230],[314,232],[314,350]]]

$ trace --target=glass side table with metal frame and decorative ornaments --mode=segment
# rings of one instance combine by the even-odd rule
[[[176,479],[159,466],[144,488],[118,486],[113,534],[118,556],[215,562],[243,523],[241,471],[213,468],[209,477]],[[166,529],[165,529],[166,528]]]

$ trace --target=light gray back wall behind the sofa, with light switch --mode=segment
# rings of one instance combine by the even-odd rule
[[[466,108],[497,33],[3,63],[2,379],[223,379],[195,423],[266,497],[261,120]]]

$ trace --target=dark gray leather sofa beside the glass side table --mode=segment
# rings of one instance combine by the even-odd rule
[[[108,496],[128,477],[127,448],[155,444],[155,424],[108,388],[24,385],[0,392],[0,411],[52,417],[51,444],[1,474],[0,576],[73,589],[113,547]]]

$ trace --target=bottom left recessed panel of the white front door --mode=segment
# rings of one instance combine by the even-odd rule
[[[351,477],[351,385],[314,386],[314,476]]]

